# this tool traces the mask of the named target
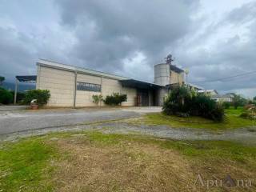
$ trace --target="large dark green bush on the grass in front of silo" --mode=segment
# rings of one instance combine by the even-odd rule
[[[224,118],[222,105],[205,94],[191,94],[191,91],[185,86],[171,90],[162,109],[165,114],[188,114],[210,118],[218,122]]]

